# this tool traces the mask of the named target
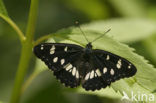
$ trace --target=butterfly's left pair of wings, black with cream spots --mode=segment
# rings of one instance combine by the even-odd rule
[[[79,59],[82,47],[65,43],[42,43],[34,47],[34,54],[54,71],[54,75],[65,86],[76,87],[80,75],[75,61]]]

